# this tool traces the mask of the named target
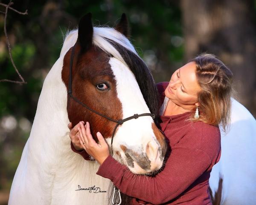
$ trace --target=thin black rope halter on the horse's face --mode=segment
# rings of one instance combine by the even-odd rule
[[[81,101],[79,101],[76,97],[74,97],[72,95],[72,66],[73,66],[73,57],[74,57],[74,51],[75,51],[75,47],[76,47],[76,44],[73,46],[72,48],[72,53],[71,53],[71,58],[70,58],[70,76],[69,76],[69,84],[68,84],[68,92],[67,94],[69,95],[69,98],[68,98],[68,101],[67,101],[67,110],[68,110],[68,105],[69,105],[69,101],[70,101],[70,97],[73,98],[73,100],[75,100],[77,103],[79,103],[80,105],[82,105],[83,107],[87,108],[88,110],[94,112],[95,114],[101,116],[101,117],[105,117],[106,119],[112,121],[112,122],[116,122],[116,126],[113,130],[113,134],[112,134],[112,138],[111,138],[111,153],[112,153],[112,156],[113,156],[113,148],[112,148],[112,143],[113,143],[113,137],[115,135],[115,132],[116,132],[116,129],[119,125],[122,125],[124,122],[128,121],[128,120],[131,120],[131,119],[137,119],[138,117],[142,117],[142,116],[151,116],[154,120],[155,118],[155,115],[152,114],[152,113],[143,113],[143,114],[134,114],[132,115],[131,117],[127,117],[125,119],[122,119],[122,120],[113,120],[112,118],[110,117],[107,117],[103,114],[100,114],[99,112],[89,108],[87,105],[85,105],[84,103],[82,103]]]

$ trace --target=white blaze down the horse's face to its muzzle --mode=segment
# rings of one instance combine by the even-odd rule
[[[140,91],[140,87],[131,70],[114,57],[110,58],[109,64],[111,65],[111,69],[116,79],[117,97],[122,103],[123,119],[134,114],[150,113]],[[119,145],[122,144],[128,148],[132,148],[138,153],[141,153],[142,151],[145,152],[147,143],[151,140],[156,141],[151,126],[152,123],[152,117],[143,116],[137,119],[128,120],[122,125],[119,125],[113,139],[113,148],[119,150],[122,154],[119,147]],[[144,150],[142,150],[142,148]]]

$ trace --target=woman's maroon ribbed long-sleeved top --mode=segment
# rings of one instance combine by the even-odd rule
[[[158,83],[163,102],[168,82]],[[189,122],[189,112],[160,116],[171,152],[163,170],[154,177],[133,174],[109,155],[96,174],[110,179],[124,194],[134,197],[132,205],[211,205],[209,177],[221,156],[218,127],[204,122]],[[72,143],[71,143],[72,145]],[[85,151],[76,151],[89,159]]]

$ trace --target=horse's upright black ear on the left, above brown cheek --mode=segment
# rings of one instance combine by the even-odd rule
[[[86,51],[92,45],[93,25],[91,13],[85,14],[79,21],[77,41],[81,46],[81,52]]]

